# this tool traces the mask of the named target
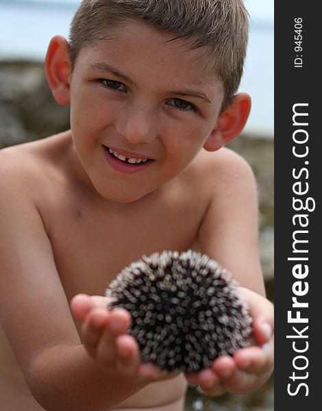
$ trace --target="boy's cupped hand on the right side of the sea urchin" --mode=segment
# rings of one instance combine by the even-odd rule
[[[211,369],[186,375],[207,395],[248,393],[264,384],[273,370],[273,304],[247,288],[240,288],[240,297],[247,301],[253,318],[253,346],[236,351],[233,357],[217,358]]]

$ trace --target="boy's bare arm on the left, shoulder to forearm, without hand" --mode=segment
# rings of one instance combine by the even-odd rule
[[[1,159],[3,156],[1,155]],[[101,410],[149,384],[101,368],[81,345],[32,197],[18,164],[1,164],[0,320],[34,397],[46,410]]]

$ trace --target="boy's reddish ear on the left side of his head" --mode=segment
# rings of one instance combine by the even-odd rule
[[[69,61],[69,44],[63,36],[55,36],[49,43],[45,58],[47,82],[55,97],[62,105],[69,104],[69,84],[71,80],[71,63]]]

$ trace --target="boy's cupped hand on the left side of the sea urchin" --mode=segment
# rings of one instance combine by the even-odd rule
[[[108,297],[79,294],[71,301],[71,310],[82,321],[82,342],[88,354],[108,373],[127,378],[156,381],[174,377],[153,365],[140,362],[138,343],[127,334],[131,316],[123,308],[110,311]]]

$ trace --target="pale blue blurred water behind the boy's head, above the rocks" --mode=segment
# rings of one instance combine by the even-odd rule
[[[0,0],[0,59],[44,60],[55,34],[68,37],[79,0]],[[245,132],[273,136],[273,0],[245,0],[251,32],[240,91],[252,109]]]

